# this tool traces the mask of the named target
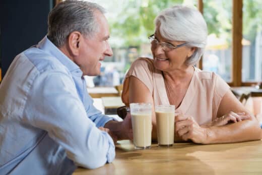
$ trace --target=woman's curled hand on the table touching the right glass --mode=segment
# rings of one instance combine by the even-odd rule
[[[208,128],[200,127],[190,115],[179,114],[176,116],[175,132],[183,141],[207,143]]]

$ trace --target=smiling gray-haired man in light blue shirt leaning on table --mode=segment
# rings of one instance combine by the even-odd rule
[[[103,115],[83,78],[112,55],[103,13],[94,3],[62,2],[48,16],[47,36],[15,57],[0,86],[0,174],[97,168],[113,161],[113,139],[132,139],[130,115]]]

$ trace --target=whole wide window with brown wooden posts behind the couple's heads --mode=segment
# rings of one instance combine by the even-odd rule
[[[154,32],[153,20],[161,10],[175,4],[198,7],[207,21],[209,36],[199,64],[201,69],[216,72],[231,86],[262,81],[260,0],[89,1],[107,10],[105,15],[111,30],[109,42],[114,52],[113,57],[106,58],[102,64],[100,77],[92,78],[97,86],[121,83],[138,56],[151,55],[147,36]],[[106,83],[106,79],[113,76],[112,72],[119,81]]]

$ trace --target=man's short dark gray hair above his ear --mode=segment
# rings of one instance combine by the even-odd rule
[[[103,7],[85,1],[64,1],[57,4],[48,15],[48,39],[61,47],[73,31],[91,37],[98,30],[94,17],[97,10],[105,13]]]

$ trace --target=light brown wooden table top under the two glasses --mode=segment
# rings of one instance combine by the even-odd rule
[[[128,140],[118,142],[116,158],[97,169],[78,168],[84,174],[262,174],[262,141],[136,150]]]

